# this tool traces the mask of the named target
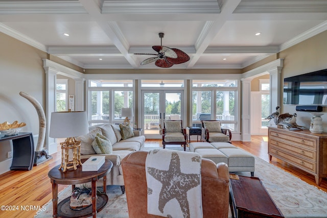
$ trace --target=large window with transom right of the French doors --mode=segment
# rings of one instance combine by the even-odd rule
[[[193,80],[192,124],[201,126],[201,120],[220,120],[223,128],[236,130],[237,81]]]

